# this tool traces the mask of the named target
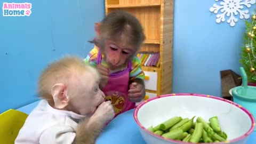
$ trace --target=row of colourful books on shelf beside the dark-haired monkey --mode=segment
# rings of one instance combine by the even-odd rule
[[[138,52],[137,57],[142,66],[159,67],[159,52]]]

